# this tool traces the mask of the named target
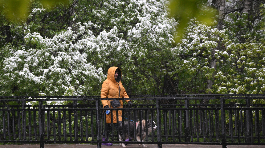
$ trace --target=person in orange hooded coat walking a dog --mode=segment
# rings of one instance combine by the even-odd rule
[[[107,79],[103,82],[100,97],[101,98],[129,98],[122,83],[121,83],[121,70],[118,67],[110,67],[108,69]],[[128,107],[132,107],[131,100],[125,100]],[[113,108],[109,100],[101,100],[103,108]],[[120,106],[116,108],[123,108],[123,101],[120,100]],[[118,111],[118,120],[122,121],[122,112]],[[112,119],[114,127],[117,129],[117,117],[116,111],[112,112]],[[108,137],[111,131],[111,114],[106,115],[106,131],[104,130],[102,135],[102,141],[108,141]],[[113,134],[113,131],[112,131]],[[112,143],[102,143],[102,145],[112,146]]]

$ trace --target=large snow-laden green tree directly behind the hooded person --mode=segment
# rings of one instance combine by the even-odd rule
[[[178,63],[177,23],[165,3],[71,1],[45,9],[36,1],[27,22],[10,26],[19,37],[3,47],[10,55],[1,94],[99,95],[111,66],[122,69],[129,94],[161,94],[163,67]]]

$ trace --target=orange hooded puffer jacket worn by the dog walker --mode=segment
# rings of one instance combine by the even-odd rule
[[[114,74],[116,69],[119,70],[119,75],[117,77],[117,81],[114,78]],[[107,79],[103,82],[102,84],[102,88],[101,88],[101,93],[100,93],[100,97],[101,98],[119,98],[119,86],[120,86],[120,98],[129,98],[129,96],[127,95],[123,85],[121,84],[121,70],[118,67],[110,67],[108,69],[108,77]],[[127,103],[130,100],[125,100]],[[101,101],[103,104],[103,107],[105,107],[106,105],[108,105],[109,107],[113,108],[110,105],[110,101],[108,100],[102,100]],[[120,107],[117,108],[123,108],[123,102],[122,100],[120,100]],[[117,117],[116,117],[116,111],[113,111],[113,123],[116,123],[117,121]],[[122,112],[119,111],[119,121],[122,120]],[[106,115],[106,121],[107,123],[111,123],[111,117],[110,114]]]

